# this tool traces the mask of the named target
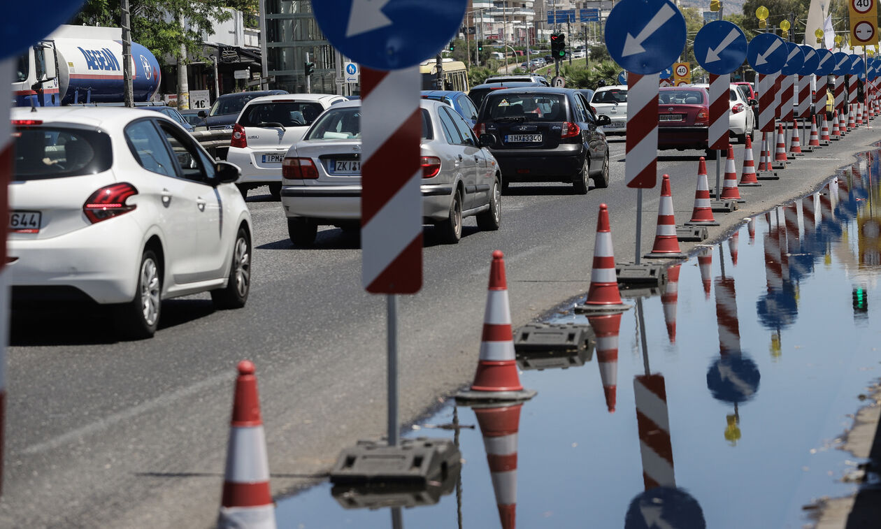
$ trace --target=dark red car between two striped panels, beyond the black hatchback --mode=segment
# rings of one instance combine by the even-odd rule
[[[662,86],[658,89],[658,149],[700,149],[714,159],[707,148],[710,98],[707,90],[695,86]]]

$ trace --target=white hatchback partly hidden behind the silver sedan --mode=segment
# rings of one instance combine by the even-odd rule
[[[279,94],[249,100],[235,120],[233,139],[226,153],[226,161],[241,169],[236,184],[241,195],[247,195],[248,189],[269,185],[270,194],[278,199],[285,152],[300,141],[326,108],[346,100],[323,93]]]

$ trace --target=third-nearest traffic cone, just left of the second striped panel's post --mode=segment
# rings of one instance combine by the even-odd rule
[[[611,246],[611,227],[609,207],[600,204],[596,218],[596,238],[594,239],[594,262],[590,269],[590,288],[588,299],[579,305],[580,312],[614,312],[630,308],[621,301],[618,291],[618,276],[615,274],[615,252]]]

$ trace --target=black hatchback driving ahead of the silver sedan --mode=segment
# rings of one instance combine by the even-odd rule
[[[568,88],[509,88],[486,94],[475,132],[511,182],[561,181],[575,192],[609,186],[609,144],[581,93]]]

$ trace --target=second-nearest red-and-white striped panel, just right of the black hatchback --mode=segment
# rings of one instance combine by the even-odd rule
[[[652,188],[657,181],[659,79],[627,73],[627,187]]]

